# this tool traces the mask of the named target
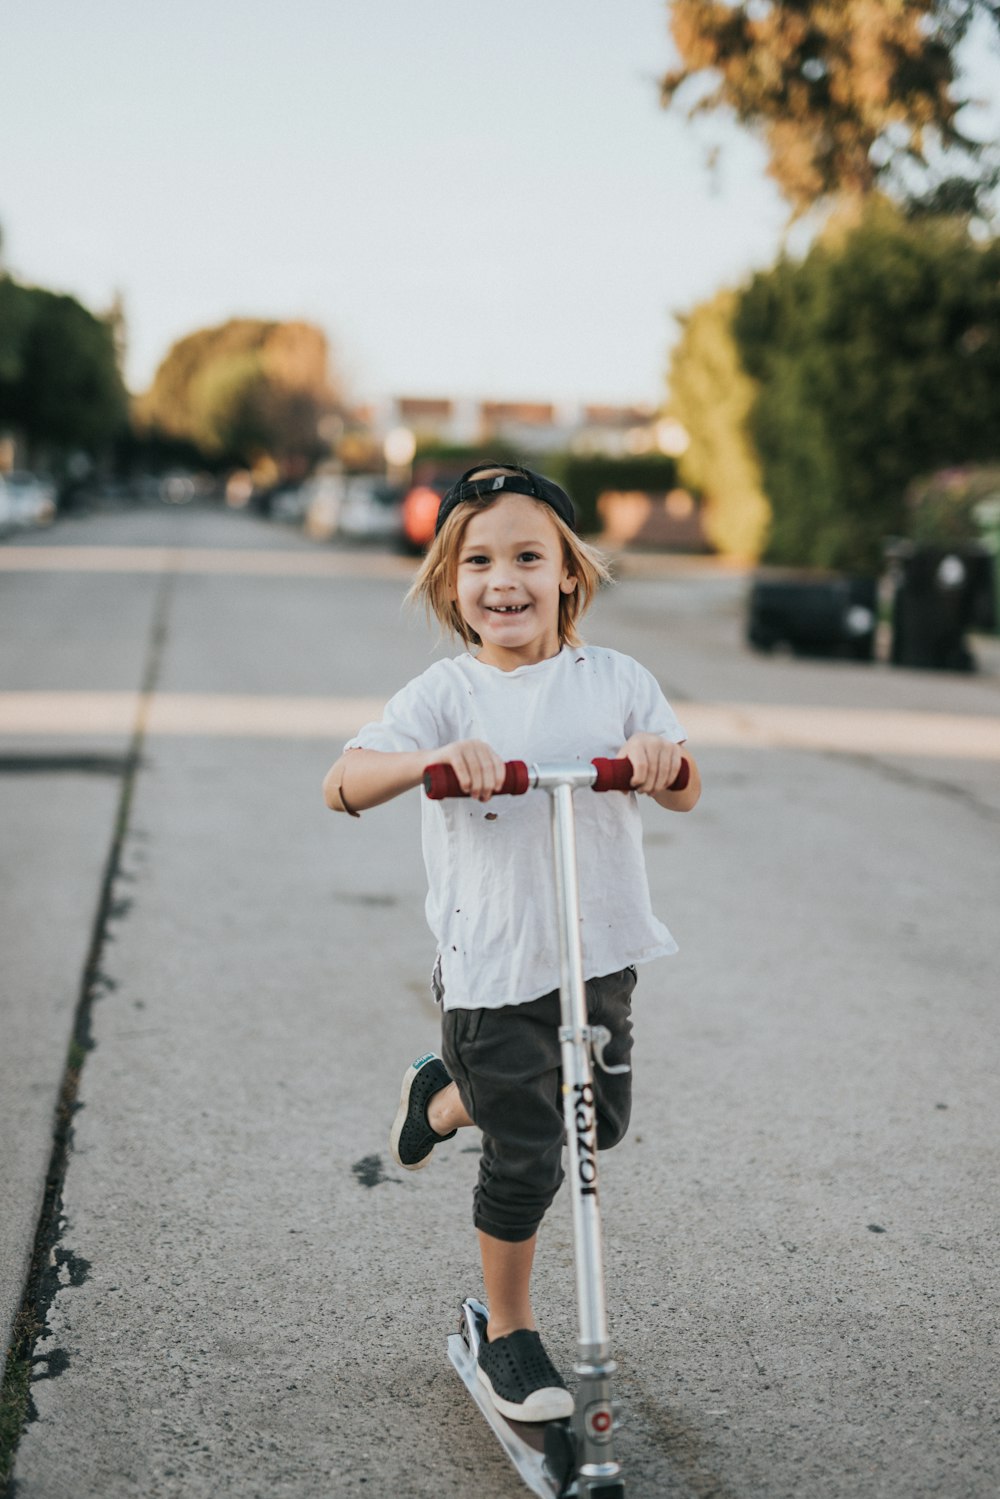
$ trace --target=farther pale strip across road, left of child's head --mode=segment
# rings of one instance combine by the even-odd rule
[[[0,573],[201,573],[255,577],[411,579],[414,558],[384,552],[264,552],[253,547],[0,547]]]

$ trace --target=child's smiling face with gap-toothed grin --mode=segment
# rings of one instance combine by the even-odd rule
[[[465,528],[451,597],[487,666],[513,672],[558,655],[559,597],[574,588],[546,505],[505,495]]]

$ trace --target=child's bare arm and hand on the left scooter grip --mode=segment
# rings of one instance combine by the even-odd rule
[[[481,739],[460,739],[438,750],[345,750],[322,782],[334,812],[367,811],[411,791],[429,764],[450,764],[466,796],[489,802],[504,784],[504,761]]]

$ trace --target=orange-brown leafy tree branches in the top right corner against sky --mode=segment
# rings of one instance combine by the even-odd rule
[[[762,135],[768,171],[795,214],[876,187],[907,196],[915,169],[928,177],[933,141],[946,159],[970,163],[973,186],[988,187],[984,142],[957,123],[966,100],[955,94],[955,52],[978,15],[999,24],[1000,4],[672,0],[681,66],[661,79],[661,97],[672,105],[699,79],[690,112],[729,108]]]

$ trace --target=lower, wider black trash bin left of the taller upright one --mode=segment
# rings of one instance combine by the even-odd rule
[[[877,580],[850,574],[762,574],[750,589],[747,640],[756,651],[871,661]]]

